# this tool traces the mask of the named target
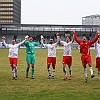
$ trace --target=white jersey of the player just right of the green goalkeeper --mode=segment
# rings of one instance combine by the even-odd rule
[[[56,47],[58,43],[43,44],[44,47],[48,48],[48,57],[56,57]]]

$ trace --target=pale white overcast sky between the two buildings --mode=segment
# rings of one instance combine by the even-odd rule
[[[22,24],[81,25],[82,17],[100,15],[100,0],[21,0]]]

